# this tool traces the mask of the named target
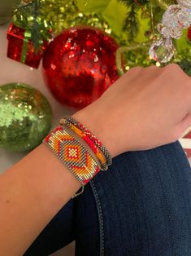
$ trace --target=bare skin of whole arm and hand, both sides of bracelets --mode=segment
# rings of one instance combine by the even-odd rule
[[[176,65],[132,68],[74,114],[115,157],[179,139],[191,124],[191,78]],[[0,177],[0,255],[20,256],[80,183],[44,144]]]

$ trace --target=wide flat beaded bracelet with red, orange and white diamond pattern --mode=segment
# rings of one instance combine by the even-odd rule
[[[85,185],[100,171],[99,162],[67,126],[58,126],[43,140],[76,179]]]

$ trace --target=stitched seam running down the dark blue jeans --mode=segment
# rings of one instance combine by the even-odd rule
[[[104,228],[103,228],[103,218],[102,218],[102,207],[101,202],[99,200],[98,192],[93,183],[93,180],[90,181],[90,186],[93,190],[93,195],[95,197],[97,209],[98,209],[98,221],[99,221],[99,232],[100,232],[100,256],[104,256]]]

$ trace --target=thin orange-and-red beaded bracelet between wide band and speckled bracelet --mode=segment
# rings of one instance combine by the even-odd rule
[[[86,143],[88,143],[89,147],[93,150],[95,155],[98,157],[98,160],[101,163],[101,170],[107,170],[108,166],[106,164],[106,157],[102,153],[102,151],[96,146],[95,143],[89,138],[88,135],[85,135],[85,133],[80,130],[78,127],[74,126],[71,122],[67,121],[67,119],[62,118],[60,121],[60,125],[66,125],[68,126],[71,130],[73,130],[76,135],[79,135],[81,139],[83,139]]]

